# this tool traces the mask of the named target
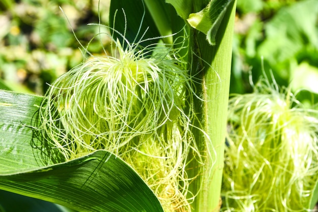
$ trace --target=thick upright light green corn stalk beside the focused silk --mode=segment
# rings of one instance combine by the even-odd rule
[[[202,171],[189,188],[194,194],[198,194],[191,205],[193,211],[197,212],[219,210],[235,8],[236,2],[225,14],[214,46],[208,43],[203,33],[191,29],[190,50],[193,55],[189,58],[189,62],[192,62],[190,68],[192,75],[200,78],[199,81],[196,80],[196,89],[198,96],[204,100],[194,97],[197,119],[193,123],[193,133],[204,165],[202,167],[202,164],[194,160],[187,169],[189,176],[193,177],[197,176],[200,169]],[[204,136],[197,128],[203,129],[208,136]]]

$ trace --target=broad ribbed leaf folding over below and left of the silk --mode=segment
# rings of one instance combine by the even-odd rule
[[[140,176],[105,150],[59,164],[43,157],[30,126],[41,100],[0,90],[0,189],[79,211],[163,211]]]

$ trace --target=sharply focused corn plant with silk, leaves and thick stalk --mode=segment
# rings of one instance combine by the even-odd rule
[[[82,46],[44,97],[1,91],[0,189],[78,211],[218,211],[235,5],[112,1],[111,25],[92,23],[111,55]]]

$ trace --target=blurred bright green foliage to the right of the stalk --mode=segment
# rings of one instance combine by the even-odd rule
[[[318,1],[239,0],[232,65],[231,93],[251,92],[249,70],[256,81],[264,69],[318,94]]]

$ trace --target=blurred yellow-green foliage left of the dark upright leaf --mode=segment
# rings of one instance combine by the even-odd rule
[[[108,24],[109,1],[101,1],[100,7],[101,22]],[[1,1],[0,88],[43,95],[47,83],[85,56],[72,29],[85,46],[99,32],[87,24],[98,19],[98,1],[93,0]],[[108,45],[107,38],[102,44]],[[99,54],[102,44],[95,39],[88,49]]]

